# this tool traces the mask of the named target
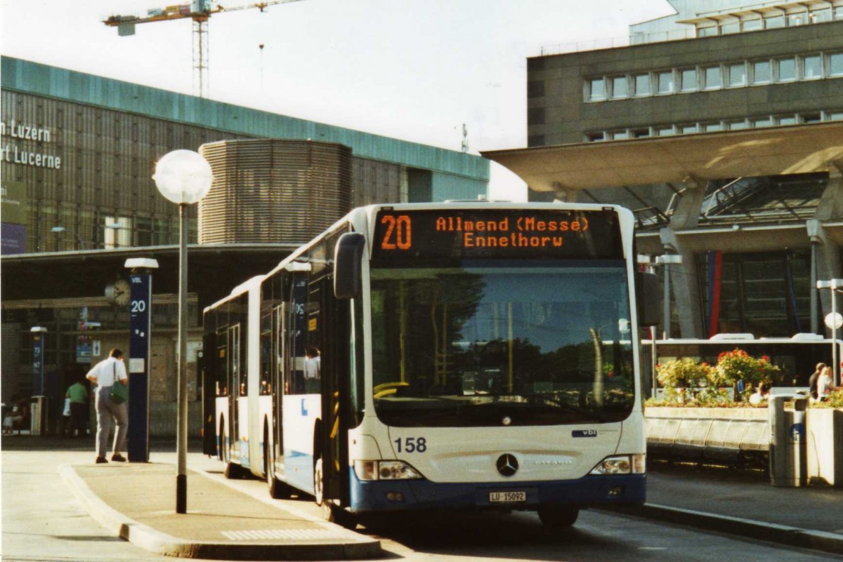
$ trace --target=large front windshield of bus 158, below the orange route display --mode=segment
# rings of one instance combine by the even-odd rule
[[[399,427],[618,422],[635,401],[622,260],[371,273],[374,406]]]

